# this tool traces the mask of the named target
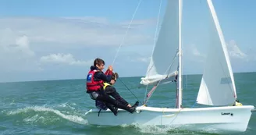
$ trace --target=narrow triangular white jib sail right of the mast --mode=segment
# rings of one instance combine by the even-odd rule
[[[226,43],[212,1],[208,0],[212,14],[209,52],[204,65],[197,103],[202,105],[231,105],[236,99],[233,71]]]

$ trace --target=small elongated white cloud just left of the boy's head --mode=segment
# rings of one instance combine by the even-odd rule
[[[94,62],[93,59],[89,61],[76,60],[71,54],[61,53],[42,56],[40,61],[42,63],[67,64],[70,66],[90,66]]]

